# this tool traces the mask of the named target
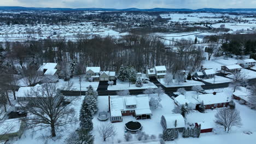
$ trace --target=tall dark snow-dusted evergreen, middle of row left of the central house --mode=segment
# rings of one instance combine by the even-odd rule
[[[91,97],[91,96],[90,96]],[[80,109],[79,121],[80,121],[80,128],[91,131],[93,128],[92,124],[92,113],[94,111],[91,110],[91,103],[90,99],[87,97],[84,98],[82,107]]]

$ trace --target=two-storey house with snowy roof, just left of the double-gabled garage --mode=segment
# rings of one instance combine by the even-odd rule
[[[100,67],[86,67],[85,79],[92,81],[100,81]]]

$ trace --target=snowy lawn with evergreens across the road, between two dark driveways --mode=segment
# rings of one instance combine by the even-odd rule
[[[158,88],[157,86],[154,85],[154,83],[149,82],[148,83],[143,83],[142,87],[136,87],[135,84],[130,83],[129,86],[129,82],[127,81],[120,81],[117,80],[117,85],[113,85],[113,86],[108,86],[108,90],[123,90],[123,89],[147,89],[147,88]]]

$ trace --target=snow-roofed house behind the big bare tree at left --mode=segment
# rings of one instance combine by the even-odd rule
[[[31,89],[37,89],[39,88],[40,85],[37,84],[34,87],[20,87],[18,92],[16,92],[16,97],[17,100],[20,101],[30,101],[31,99],[33,99],[33,95],[29,95]]]

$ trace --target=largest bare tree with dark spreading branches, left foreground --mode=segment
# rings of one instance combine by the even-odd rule
[[[56,130],[68,123],[76,122],[75,111],[65,104],[68,100],[72,103],[74,97],[66,97],[61,94],[61,90],[71,89],[73,83],[58,88],[55,83],[44,83],[41,87],[31,88],[26,93],[27,100],[31,106],[26,106],[26,110],[32,115],[27,117],[27,123],[31,127],[40,129],[51,128],[51,136],[56,136]],[[39,129],[39,130],[40,130]]]

